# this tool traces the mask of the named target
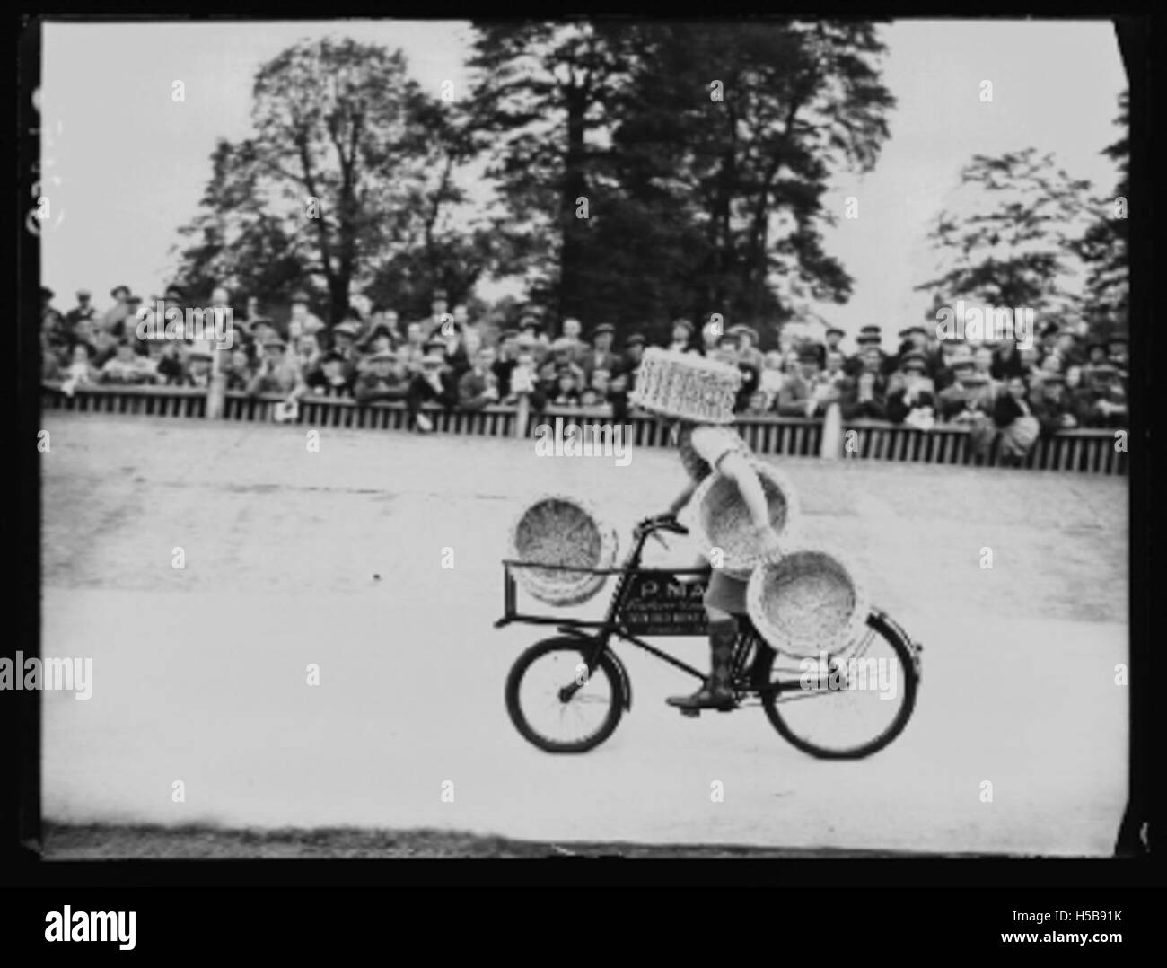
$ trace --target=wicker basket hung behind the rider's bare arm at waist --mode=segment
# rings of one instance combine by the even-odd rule
[[[770,525],[780,536],[792,534],[798,520],[798,499],[785,474],[776,467],[750,457],[750,466],[762,482],[762,493],[770,509]],[[732,578],[746,580],[757,564],[757,534],[749,508],[736,482],[724,474],[710,474],[693,494],[693,525],[701,550],[721,550],[721,570]]]

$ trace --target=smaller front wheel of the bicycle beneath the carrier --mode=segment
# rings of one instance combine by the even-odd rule
[[[608,653],[587,675],[593,645],[545,639],[524,652],[506,677],[506,712],[524,739],[547,753],[586,753],[620,723],[623,680]]]

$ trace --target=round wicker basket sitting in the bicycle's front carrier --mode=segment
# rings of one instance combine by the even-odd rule
[[[511,558],[544,565],[612,567],[616,530],[578,497],[547,495],[532,503],[511,525]],[[515,578],[548,605],[580,605],[607,580],[606,574],[560,569],[516,567]]]

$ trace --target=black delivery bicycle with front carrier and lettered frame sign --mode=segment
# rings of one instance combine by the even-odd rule
[[[613,648],[613,640],[628,642],[648,652],[699,680],[705,673],[680,661],[675,655],[643,641],[641,636],[705,636],[706,618],[703,578],[711,574],[704,569],[642,569],[644,543],[655,537],[668,548],[659,532],[687,534],[687,529],[672,517],[650,517],[641,521],[633,531],[633,545],[619,567],[587,569],[579,565],[545,565],[533,562],[503,560],[503,618],[495,628],[512,622],[554,625],[558,635],[536,642],[523,652],[506,677],[506,711],[529,743],[548,753],[586,753],[603,743],[615,731],[624,712],[631,711],[631,681],[624,663]],[[576,573],[616,574],[615,591],[601,621],[564,619],[550,615],[522,614],[516,608],[516,580],[512,569],[538,567]],[[732,688],[735,704],[728,710],[761,705],[767,719],[787,741],[796,748],[820,759],[861,759],[885,748],[907,726],[915,709],[916,694],[922,676],[922,643],[886,612],[872,607],[864,634],[841,648],[824,653],[808,669],[808,660],[775,649],[756,631],[748,617],[738,617],[739,634],[734,643]],[[867,657],[872,647],[881,643],[890,649],[894,666],[872,667]],[[825,660],[825,662],[824,662]],[[789,662],[798,663],[791,669]],[[885,660],[887,662],[887,660]],[[858,664],[854,664],[858,663]],[[536,669],[538,668],[538,671]],[[826,726],[838,727],[846,719],[843,699],[848,696],[875,696],[879,690],[867,688],[869,678],[860,687],[861,673],[872,669],[894,669],[902,689],[893,705],[880,696],[879,706],[887,722],[874,734],[869,729],[832,744],[820,729],[808,722],[798,706],[812,709],[831,706]],[[544,671],[546,670],[546,671]],[[825,675],[824,675],[825,673]],[[883,682],[882,673],[879,673]],[[893,676],[888,676],[890,680]],[[546,680],[544,683],[543,680]],[[854,688],[852,688],[854,687]],[[886,691],[886,690],[885,690]],[[547,702],[550,697],[550,702]],[[560,727],[566,722],[579,722],[587,727],[588,713],[598,713],[589,731],[562,738],[548,734],[538,723],[548,710]],[[600,709],[602,706],[602,709]],[[699,710],[682,710],[683,715],[698,716]]]

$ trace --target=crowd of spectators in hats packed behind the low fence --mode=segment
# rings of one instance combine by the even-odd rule
[[[139,321],[159,304],[183,308],[172,286],[148,306],[126,286],[113,305],[97,309],[91,293],[61,313],[54,293],[42,290],[43,378],[67,392],[85,384],[154,384],[205,388],[212,371],[210,343],[140,339]],[[450,308],[435,291],[431,313],[403,321],[387,307],[354,300],[345,318],[327,325],[295,293],[287,319],[263,314],[256,300],[232,313],[233,346],[219,350],[228,390],[278,395],[288,404],[306,397],[348,397],[365,404],[399,401],[412,425],[431,429],[424,404],[477,410],[525,396],[536,411],[580,409],[623,420],[648,340],[630,333],[617,347],[615,327],[599,322],[585,333],[564,319],[558,333],[534,307],[513,325],[471,318]],[[217,288],[211,305],[228,307]],[[838,404],[845,420],[869,418],[927,430],[937,423],[967,424],[974,450],[1000,438],[1006,455],[1023,455],[1039,436],[1072,427],[1124,426],[1127,343],[1084,340],[1076,329],[1048,323],[1030,348],[1013,341],[937,340],[923,326],[899,332],[885,349],[879,326],[864,327],[855,349],[844,351],[841,329],[822,341],[796,341],[780,333],[777,348],[763,351],[750,326],[694,327],[677,320],[664,344],[720,358],[742,370],[738,411],[817,418]]]

